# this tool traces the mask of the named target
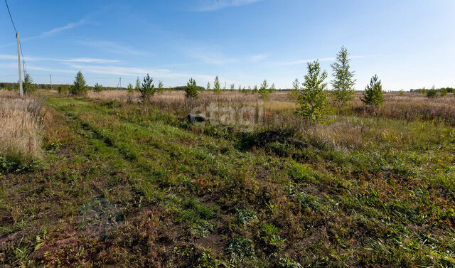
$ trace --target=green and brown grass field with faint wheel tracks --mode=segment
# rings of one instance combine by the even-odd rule
[[[41,95],[38,164],[1,169],[4,267],[455,265],[451,95],[357,95],[311,129],[285,92]],[[211,102],[262,123],[186,122]]]

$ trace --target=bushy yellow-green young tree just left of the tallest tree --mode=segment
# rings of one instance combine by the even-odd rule
[[[310,123],[326,123],[326,113],[328,112],[328,100],[324,82],[327,78],[326,71],[321,72],[319,61],[307,63],[308,74],[305,75],[305,82],[300,88],[299,81],[294,81],[296,104],[299,107],[295,113],[302,119]]]

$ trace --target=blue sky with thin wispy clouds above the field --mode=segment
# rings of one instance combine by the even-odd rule
[[[378,74],[385,90],[455,87],[454,0],[9,0],[35,82],[134,83],[150,73],[172,87],[215,75],[235,87],[328,71],[342,45],[355,88]],[[17,80],[16,39],[0,4],[0,81]],[[47,75],[47,76],[46,76]],[[330,87],[330,85],[329,85]]]

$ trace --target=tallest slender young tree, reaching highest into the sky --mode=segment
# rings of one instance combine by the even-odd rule
[[[350,71],[349,53],[344,46],[336,55],[336,62],[331,65],[334,79],[331,81],[333,95],[339,104],[346,104],[354,94],[354,72]]]

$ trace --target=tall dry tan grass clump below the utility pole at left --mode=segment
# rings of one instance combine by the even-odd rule
[[[13,92],[15,93],[15,92]],[[43,151],[43,100],[21,100],[0,90],[0,156],[16,162],[39,159]]]

